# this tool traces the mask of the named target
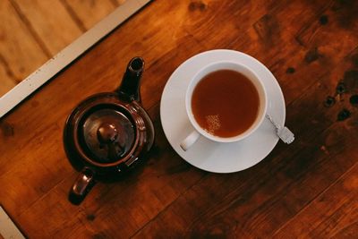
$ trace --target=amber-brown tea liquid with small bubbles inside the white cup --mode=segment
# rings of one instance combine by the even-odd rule
[[[209,73],[192,92],[192,114],[205,131],[229,138],[255,122],[260,107],[258,90],[242,73],[219,70]]]

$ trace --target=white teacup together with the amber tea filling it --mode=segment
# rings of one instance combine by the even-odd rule
[[[267,94],[260,78],[234,62],[209,64],[190,81],[185,107],[194,128],[180,144],[189,149],[200,136],[211,141],[241,141],[266,115]]]

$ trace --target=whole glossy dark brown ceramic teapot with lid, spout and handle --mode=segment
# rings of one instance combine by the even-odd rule
[[[81,203],[97,181],[130,170],[153,145],[153,124],[141,107],[143,69],[141,57],[132,58],[118,90],[85,99],[67,118],[64,149],[81,172],[72,185],[72,203]]]

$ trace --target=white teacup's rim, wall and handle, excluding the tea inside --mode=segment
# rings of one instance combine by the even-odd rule
[[[244,132],[235,135],[233,137],[219,137],[217,135],[213,135],[203,128],[200,127],[200,124],[195,120],[195,117],[192,113],[192,93],[197,84],[209,73],[217,72],[219,70],[232,70],[238,73],[242,73],[244,76],[249,79],[252,84],[255,86],[258,94],[259,94],[259,111],[257,117],[253,124],[245,130]],[[238,104],[242,104],[243,102],[238,102]],[[186,151],[192,147],[192,145],[198,141],[201,137],[206,137],[210,141],[217,141],[217,142],[234,142],[234,141],[241,141],[251,135],[251,133],[255,132],[262,124],[263,119],[266,115],[268,102],[267,102],[267,93],[265,87],[262,83],[262,80],[254,73],[250,68],[243,64],[238,64],[234,62],[216,62],[213,64],[209,64],[202,68],[189,83],[188,89],[186,90],[185,95],[185,107],[186,107],[186,114],[189,117],[189,120],[194,128],[192,131],[181,143],[180,147]]]

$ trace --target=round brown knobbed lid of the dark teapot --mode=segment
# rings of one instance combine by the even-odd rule
[[[100,164],[124,158],[135,143],[135,124],[121,107],[94,107],[81,117],[77,129],[84,154]]]

